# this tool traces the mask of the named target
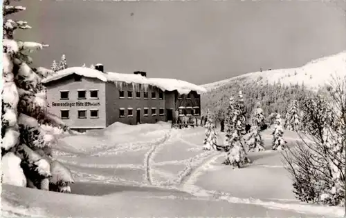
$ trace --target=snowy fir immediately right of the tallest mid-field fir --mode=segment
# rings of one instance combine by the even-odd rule
[[[264,122],[263,110],[260,108],[260,102],[257,103],[252,116],[253,125],[248,133],[246,144],[248,151],[261,151],[264,150],[264,142],[261,137],[261,125]]]

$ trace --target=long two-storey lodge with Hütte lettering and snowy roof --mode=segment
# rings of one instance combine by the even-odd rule
[[[135,125],[200,119],[201,86],[176,79],[147,78],[145,72],[121,74],[74,67],[42,80],[48,112],[71,129],[102,129],[114,122]]]

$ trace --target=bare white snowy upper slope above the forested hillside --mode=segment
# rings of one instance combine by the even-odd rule
[[[202,87],[207,90],[212,90],[227,85],[230,81],[236,79],[246,79],[249,82],[255,81],[258,83],[274,83],[280,81],[285,85],[289,85],[290,83],[293,85],[297,83],[302,85],[304,83],[304,86],[307,88],[316,89],[319,86],[324,86],[326,83],[329,83],[332,79],[331,76],[346,76],[346,51],[310,61],[300,68],[249,72],[230,79],[207,83],[202,85]]]

